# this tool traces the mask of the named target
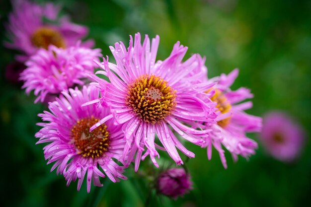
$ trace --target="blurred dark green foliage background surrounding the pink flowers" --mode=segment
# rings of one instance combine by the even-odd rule
[[[40,2],[44,2],[41,0]],[[173,44],[188,46],[193,53],[206,56],[209,77],[240,74],[233,89],[245,86],[255,97],[248,113],[263,116],[273,109],[287,111],[307,131],[300,159],[286,164],[270,157],[259,143],[249,161],[233,163],[226,153],[225,170],[214,150],[208,161],[206,150],[187,144],[195,152],[188,167],[194,190],[176,201],[151,198],[152,206],[182,207],[293,207],[306,206],[311,195],[311,1],[310,0],[67,0],[64,6],[76,23],[87,25],[89,37],[113,57],[108,49],[117,41],[128,46],[129,34],[136,32],[160,36],[158,59],[170,54]],[[0,40],[3,24],[11,9],[8,0],[0,1]],[[4,70],[13,62],[15,51],[0,46],[0,122],[1,195],[10,207],[82,207],[97,205],[144,206],[148,182],[127,170],[128,181],[86,193],[77,183],[66,187],[63,176],[50,173],[43,144],[35,145],[40,129],[37,114],[45,106],[33,104],[20,85],[5,80]],[[250,135],[258,140],[257,135]],[[162,158],[163,157],[163,158]],[[165,156],[161,158],[164,159]],[[169,162],[172,162],[169,160]],[[143,162],[141,170],[157,172]],[[107,180],[107,179],[104,179]],[[96,196],[101,195],[103,196]],[[2,200],[3,200],[2,199]],[[3,205],[3,201],[1,202]]]

